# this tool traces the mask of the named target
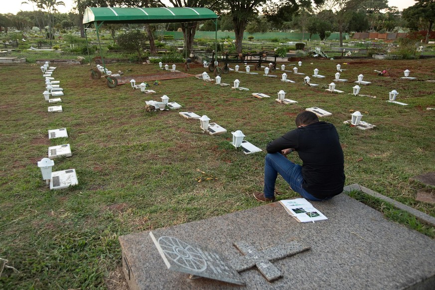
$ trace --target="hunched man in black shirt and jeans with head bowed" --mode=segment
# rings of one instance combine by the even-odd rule
[[[275,201],[278,173],[308,200],[327,200],[343,191],[344,157],[334,125],[319,122],[308,111],[298,114],[295,122],[296,129],[266,147],[264,191],[254,193],[259,201]],[[297,151],[302,166],[287,159],[292,151]]]

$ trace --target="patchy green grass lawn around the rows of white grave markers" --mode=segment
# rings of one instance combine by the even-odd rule
[[[435,60],[345,61],[349,64],[302,60],[299,72],[311,76],[318,68],[326,76],[311,78],[319,88],[304,86],[303,76],[292,73],[288,79],[295,84],[281,82],[278,71],[278,78],[263,77],[263,71],[257,76],[232,72],[222,75],[222,82],[237,78],[249,92],[191,77],[151,85],[155,95],[133,90],[130,83],[109,89],[104,79],[90,79],[86,64],[58,65],[53,76],[65,93],[58,114],[47,112],[40,65],[0,66],[0,257],[20,271],[5,269],[0,289],[105,288],[105,279],[121,265],[118,236],[259,206],[252,192],[262,189],[266,153],[245,155],[230,145],[231,132],[242,130],[247,141],[264,149],[294,129],[295,116],[312,106],[333,113],[325,121],[340,135],[346,184],[359,183],[435,216],[433,205],[416,201],[418,185],[408,181],[435,170],[435,111],[426,110],[435,106],[434,83],[426,82],[435,79]],[[349,79],[336,83],[343,94],[324,90],[337,63],[345,69],[341,78]],[[131,78],[162,73],[158,65],[107,67]],[[391,77],[373,71],[383,68]],[[418,80],[401,80],[405,69]],[[203,71],[198,67],[190,73]],[[372,82],[361,86],[360,94],[376,98],[348,94],[359,74]],[[298,103],[277,103],[280,90]],[[387,103],[391,90],[409,105]],[[272,98],[256,99],[254,92]],[[228,132],[206,135],[198,120],[182,118],[178,111],[145,113],[145,101],[162,95]],[[364,132],[343,125],[352,110],[377,128]],[[63,127],[68,139],[48,139],[49,129]],[[79,184],[50,191],[36,162],[47,156],[49,145],[66,143],[73,155],[55,159],[53,171],[75,168]],[[294,153],[290,158],[300,162]],[[206,180],[209,175],[216,179]],[[277,187],[286,192],[280,199],[298,196],[282,178]],[[424,228],[435,236],[433,227]]]

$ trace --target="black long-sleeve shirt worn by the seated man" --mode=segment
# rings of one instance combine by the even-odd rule
[[[269,153],[294,148],[302,160],[302,187],[317,198],[343,191],[344,157],[334,125],[316,122],[292,130],[266,147]]]

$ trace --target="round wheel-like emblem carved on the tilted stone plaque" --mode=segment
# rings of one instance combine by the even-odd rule
[[[195,248],[187,243],[169,236],[158,238],[158,244],[165,256],[180,267],[192,271],[204,271],[207,262]]]

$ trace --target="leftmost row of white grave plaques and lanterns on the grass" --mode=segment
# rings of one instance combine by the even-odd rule
[[[45,91],[42,93],[44,99],[49,104],[61,103],[61,98],[63,96],[63,89],[60,87],[60,81],[56,81],[52,76],[56,67],[50,67],[48,61],[41,66],[42,76],[45,78]],[[48,107],[48,112],[60,113],[62,112],[62,106],[50,106]],[[66,128],[60,128],[55,130],[48,130],[48,139],[54,138],[67,138],[68,134]],[[53,159],[58,157],[70,157],[71,146],[69,144],[49,146],[48,147],[48,158],[44,157],[37,162],[38,167],[41,169],[42,179],[46,180],[46,183],[50,185],[50,189],[63,189],[72,185],[78,184],[77,174],[75,169],[61,170],[52,172],[52,167],[54,166]]]

